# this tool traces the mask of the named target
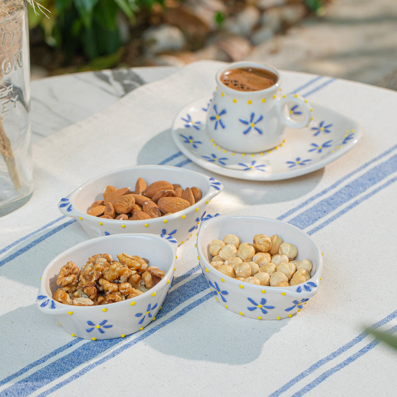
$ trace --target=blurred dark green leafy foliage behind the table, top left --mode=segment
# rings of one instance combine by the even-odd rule
[[[88,60],[113,59],[122,45],[118,16],[130,23],[139,9],[150,9],[163,0],[41,0],[50,13],[29,10],[29,27],[40,26],[50,46],[62,51],[67,65],[73,56]]]

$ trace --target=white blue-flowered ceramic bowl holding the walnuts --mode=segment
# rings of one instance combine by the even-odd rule
[[[115,234],[97,237],[77,244],[54,258],[44,269],[36,298],[38,309],[50,316],[72,336],[84,339],[124,337],[142,330],[152,322],[171,287],[174,276],[177,243],[169,236],[153,234]],[[148,291],[135,298],[97,306],[74,306],[53,299],[60,269],[73,261],[81,268],[96,254],[125,252],[149,260],[149,265],[165,271],[164,277]]]

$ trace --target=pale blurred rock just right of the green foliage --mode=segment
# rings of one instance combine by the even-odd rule
[[[186,45],[186,39],[181,30],[167,24],[149,27],[142,33],[142,40],[147,54],[180,51]]]

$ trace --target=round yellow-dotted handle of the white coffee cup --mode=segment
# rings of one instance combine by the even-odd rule
[[[293,104],[288,114],[285,114],[285,105]],[[283,123],[291,128],[305,128],[312,121],[312,111],[308,101],[299,95],[286,95],[277,103],[278,114]],[[292,118],[293,115],[302,115],[303,120],[297,121]]]

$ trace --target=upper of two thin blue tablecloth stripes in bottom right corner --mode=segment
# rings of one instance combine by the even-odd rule
[[[377,329],[377,328],[389,323],[390,321],[394,320],[395,318],[397,318],[397,310],[395,310],[393,313],[389,314],[389,316],[385,317],[384,319],[376,322],[370,328]],[[397,326],[395,326],[395,327],[397,327]],[[395,328],[395,327],[393,327],[393,328]],[[321,360],[317,361],[317,363],[315,363],[312,366],[310,366],[307,370],[301,372],[298,376],[296,376],[295,378],[291,379],[289,382],[287,382],[285,385],[283,385],[281,388],[279,388],[278,390],[273,392],[268,397],[278,397],[278,396],[280,396],[285,391],[287,391],[292,386],[294,386],[296,383],[300,382],[302,379],[306,378],[308,375],[310,375],[311,373],[316,371],[318,368],[320,368],[324,364],[327,364],[328,362],[330,362],[334,358],[338,357],[340,354],[344,353],[345,351],[347,351],[348,349],[350,349],[351,347],[353,347],[357,343],[361,342],[366,336],[368,336],[368,332],[367,331],[361,332],[358,336],[356,336],[355,338],[351,339],[349,342],[347,342],[343,346],[339,347],[337,350],[333,351],[328,356],[326,356],[326,357],[322,358]]]

